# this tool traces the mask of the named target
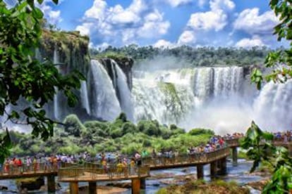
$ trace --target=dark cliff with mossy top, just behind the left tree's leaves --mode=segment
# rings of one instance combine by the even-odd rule
[[[57,67],[62,74],[79,70],[86,77],[90,66],[88,44],[89,38],[81,36],[79,32],[44,30],[39,46],[40,60],[49,59],[58,63]],[[54,60],[57,60],[57,62]],[[80,90],[76,90],[75,93],[80,98]],[[89,116],[86,114],[82,102],[79,102],[74,108],[69,108],[63,93],[58,93],[55,97],[54,102],[47,105],[49,117],[61,120],[71,112],[75,112],[77,115],[85,115],[85,117]]]

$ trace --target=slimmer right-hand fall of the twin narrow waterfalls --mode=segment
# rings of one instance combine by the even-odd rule
[[[126,75],[118,66],[116,61],[111,60],[111,67],[116,76],[114,76],[114,83],[116,83],[116,89],[118,89],[118,96],[121,104],[121,110],[126,113],[127,118],[133,121],[133,102],[132,94],[127,84]]]

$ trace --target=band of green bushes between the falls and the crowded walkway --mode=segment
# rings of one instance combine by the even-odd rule
[[[32,138],[30,134],[11,131],[14,143],[13,155],[25,156],[44,153],[76,154],[80,152],[96,155],[101,152],[133,154],[136,150],[178,150],[186,153],[190,146],[207,143],[214,135],[210,129],[184,129],[159,124],[157,121],[140,121],[133,124],[123,113],[114,122],[80,122],[76,115],[68,115],[64,127],[55,128],[55,136],[47,141]]]

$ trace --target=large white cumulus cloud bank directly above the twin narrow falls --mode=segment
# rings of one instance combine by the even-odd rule
[[[149,1],[133,0],[130,6],[123,8],[119,4],[111,7],[104,0],[95,0],[76,30],[90,35],[95,44],[132,44],[139,38],[158,38],[168,32],[170,22],[146,2]]]

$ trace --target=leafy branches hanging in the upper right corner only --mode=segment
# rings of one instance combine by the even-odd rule
[[[278,41],[286,40],[290,48],[270,52],[265,60],[265,67],[272,68],[272,73],[263,75],[260,70],[253,70],[251,79],[260,89],[262,82],[286,82],[292,78],[292,6],[291,0],[271,0],[269,6],[279,18],[279,25],[274,27],[274,34],[278,35]]]

